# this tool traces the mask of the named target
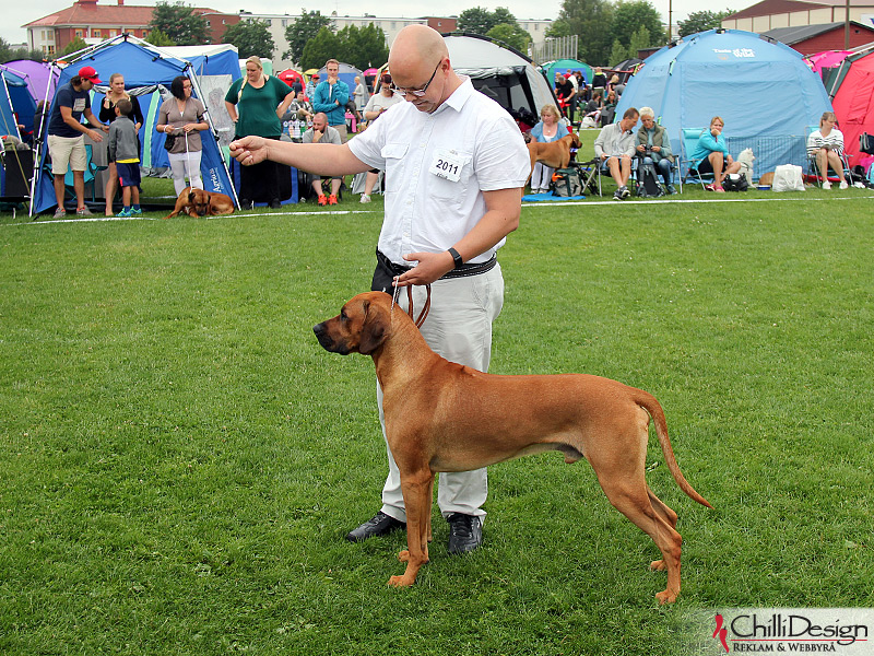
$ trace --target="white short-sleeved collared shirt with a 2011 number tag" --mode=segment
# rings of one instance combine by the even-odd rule
[[[531,171],[510,115],[463,80],[434,113],[399,103],[349,142],[358,160],[386,172],[378,248],[395,263],[458,243],[486,212],[483,191],[524,187]],[[504,242],[470,261],[488,260]]]

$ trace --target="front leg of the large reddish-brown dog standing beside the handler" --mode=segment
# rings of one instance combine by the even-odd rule
[[[430,493],[434,489],[434,473],[426,469],[412,476],[401,471],[401,492],[406,508],[406,549],[398,554],[398,560],[406,563],[401,576],[389,578],[389,585],[405,587],[416,582],[420,567],[428,562],[428,539],[430,534]]]

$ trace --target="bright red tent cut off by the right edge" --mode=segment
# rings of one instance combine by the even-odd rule
[[[850,166],[864,166],[871,156],[859,152],[859,137],[862,132],[874,133],[874,46],[848,56],[830,75],[827,91],[843,132]]]

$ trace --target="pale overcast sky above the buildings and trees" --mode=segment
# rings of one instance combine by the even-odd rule
[[[156,0],[126,0],[126,4],[154,5]],[[170,3],[175,3],[172,0]],[[656,9],[662,13],[662,19],[668,22],[669,0],[650,0]],[[741,10],[755,3],[756,0],[717,0],[713,7],[708,7],[713,11],[732,8]],[[34,0],[33,2],[22,2],[21,0],[4,0],[2,22],[0,22],[0,36],[11,44],[21,44],[26,39],[26,32],[21,27],[43,16],[49,15],[62,9],[71,7],[73,0]],[[117,0],[98,0],[99,4],[115,4]],[[300,8],[307,11],[318,9],[322,14],[330,14],[335,11],[338,15],[359,16],[364,13],[374,14],[380,17],[420,17],[435,14],[435,3],[433,2],[409,2],[405,0],[327,0],[327,2],[314,5],[305,0],[291,0],[290,2],[276,2],[276,0],[185,0],[186,4],[192,7],[210,7],[217,11],[236,13],[240,10],[252,13],[290,13],[298,14]],[[517,19],[555,19],[562,7],[562,0],[543,0],[543,2],[531,2],[530,0],[499,0],[496,2],[477,2],[476,0],[445,0],[439,2],[442,15],[458,15],[471,7],[484,7],[494,10],[498,7],[506,7]],[[284,9],[280,9],[284,8]],[[536,9],[534,9],[536,8]],[[673,0],[672,22],[676,24],[678,20],[685,19],[689,12],[700,11],[701,3],[698,0]],[[277,47],[283,45],[276,44]]]

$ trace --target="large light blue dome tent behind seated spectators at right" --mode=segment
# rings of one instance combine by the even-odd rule
[[[645,106],[668,129],[675,153],[681,128],[706,128],[721,116],[731,154],[753,149],[754,178],[779,164],[804,165],[807,127],[831,110],[801,54],[737,30],[687,36],[647,58],[619,98],[616,120]]]

